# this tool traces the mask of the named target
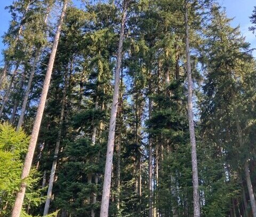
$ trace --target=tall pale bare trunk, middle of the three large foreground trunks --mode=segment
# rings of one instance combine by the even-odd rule
[[[127,2],[123,1],[123,4],[124,4],[124,9],[122,14],[121,32],[119,36],[118,51],[117,51],[117,66],[115,71],[114,95],[113,95],[113,102],[111,106],[111,117],[109,122],[107,157],[106,157],[106,165],[105,165],[105,173],[104,173],[100,217],[108,216],[108,206],[109,206],[110,186],[111,186],[111,172],[112,172],[114,140],[115,140],[116,115],[117,115],[118,95],[119,95],[119,82],[120,82],[119,79],[120,79],[120,69],[121,69],[121,63],[122,63],[122,51],[123,51]]]

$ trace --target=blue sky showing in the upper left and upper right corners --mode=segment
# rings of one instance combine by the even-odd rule
[[[219,0],[223,7],[226,7],[227,15],[229,18],[234,18],[232,26],[240,26],[242,34],[246,37],[246,41],[251,43],[252,48],[256,48],[256,37],[248,28],[251,26],[249,16],[252,13],[253,6],[256,6],[255,0]],[[12,4],[12,0],[0,0],[0,36],[3,36],[4,32],[8,29],[9,21],[11,19],[10,14],[5,10],[5,6]],[[3,50],[2,39],[0,40],[0,50]],[[254,51],[254,57],[256,57],[256,51]],[[2,60],[2,55],[0,55]],[[3,63],[0,62],[2,65]]]

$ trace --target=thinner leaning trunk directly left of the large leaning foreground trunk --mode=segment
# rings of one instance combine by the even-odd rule
[[[47,19],[49,17],[51,6],[52,5],[49,4],[48,7],[47,7],[47,10],[46,10],[45,19],[44,19],[45,25],[46,25]],[[25,93],[23,103],[22,103],[22,107],[21,107],[21,113],[20,113],[20,118],[19,118],[18,125],[17,125],[17,131],[19,130],[19,128],[22,126],[22,123],[23,123],[23,119],[24,119],[24,116],[25,116],[26,107],[27,107],[27,103],[28,103],[28,97],[29,97],[32,81],[33,81],[33,78],[34,78],[34,74],[35,74],[35,71],[36,71],[36,64],[38,62],[38,59],[39,59],[39,56],[40,56],[40,53],[41,53],[41,49],[42,49],[42,47],[38,47],[36,49],[36,52],[35,52],[35,58],[34,58],[31,73],[30,73],[29,79],[28,79],[28,86],[27,86],[26,93]]]

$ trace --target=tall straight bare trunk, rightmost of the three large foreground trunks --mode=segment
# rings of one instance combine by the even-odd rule
[[[186,28],[186,59],[187,59],[187,74],[188,74],[188,122],[189,135],[191,144],[191,162],[193,173],[193,205],[194,217],[200,216],[200,201],[198,189],[198,171],[197,171],[197,155],[196,155],[196,137],[194,128],[193,115],[193,81],[191,76],[191,62],[190,62],[190,47],[189,47],[189,27],[188,27],[188,1],[185,0],[185,28]]]

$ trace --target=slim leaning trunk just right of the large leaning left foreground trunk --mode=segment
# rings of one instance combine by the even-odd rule
[[[64,120],[65,107],[66,107],[67,89],[68,89],[68,71],[66,72],[66,75],[65,75],[65,85],[64,85],[64,89],[63,89],[63,97],[61,100],[62,105],[61,105],[61,111],[60,111],[59,131],[58,131],[56,146],[55,146],[55,150],[54,150],[54,160],[52,162],[51,175],[50,175],[49,186],[48,186],[48,190],[47,190],[46,202],[45,202],[45,206],[44,206],[44,215],[47,215],[49,212],[49,207],[50,207],[51,198],[52,198],[52,188],[53,188],[53,182],[54,182],[55,172],[56,172],[56,167],[57,167],[57,162],[58,162],[63,120]]]

